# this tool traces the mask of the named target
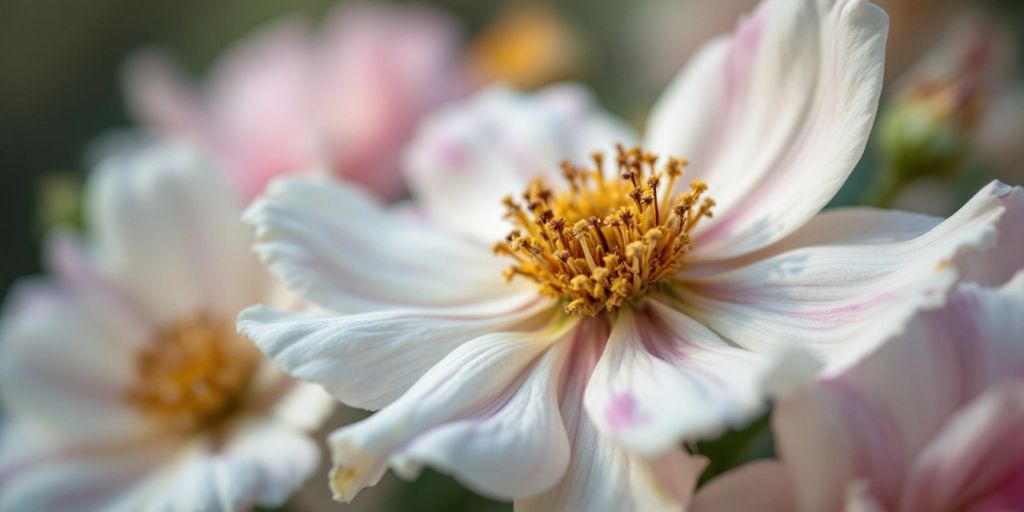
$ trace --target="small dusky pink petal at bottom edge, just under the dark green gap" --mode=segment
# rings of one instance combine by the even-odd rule
[[[797,510],[797,502],[785,467],[775,461],[757,461],[729,470],[701,486],[689,510],[787,512]]]

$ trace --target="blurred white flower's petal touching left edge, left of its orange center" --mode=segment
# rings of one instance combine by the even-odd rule
[[[146,423],[123,393],[134,381],[133,356],[146,332],[99,286],[82,296],[59,292],[3,318],[4,409],[70,439],[137,437]]]

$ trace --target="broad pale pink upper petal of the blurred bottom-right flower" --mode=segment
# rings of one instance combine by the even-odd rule
[[[781,400],[776,445],[802,508],[839,509],[863,480],[864,493],[895,509],[949,418],[993,384],[1024,376],[1021,310],[1024,272],[1000,289],[962,285],[943,309],[919,313],[856,366]]]

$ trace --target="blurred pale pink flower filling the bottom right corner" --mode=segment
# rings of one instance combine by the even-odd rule
[[[713,480],[695,510],[738,510],[737,499],[768,511],[1024,509],[1024,189],[1004,201],[995,250],[964,262],[972,282],[848,371],[779,400],[781,463]]]

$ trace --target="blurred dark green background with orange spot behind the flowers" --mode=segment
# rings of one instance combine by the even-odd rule
[[[1024,0],[876,0],[891,15],[888,79],[904,76],[943,34],[984,11],[1004,34],[1009,62],[998,80],[1020,88],[1024,55]],[[124,59],[145,47],[162,47],[197,76],[248,31],[285,13],[322,15],[330,0],[0,0],[0,293],[39,270],[44,226],[74,220],[76,186],[87,169],[91,142],[129,124],[120,86]],[[728,30],[754,0],[436,0],[466,31],[469,54],[492,76],[537,86],[558,79],[582,81],[602,102],[640,123],[656,93],[708,38]],[[1001,86],[1001,85],[1000,85]],[[892,90],[898,89],[893,85]],[[1024,88],[1020,88],[1024,91]],[[890,92],[891,92],[890,91]],[[1024,93],[1006,101],[1024,104]],[[1013,97],[1017,99],[1014,100]],[[1011,119],[995,136],[1018,150],[1024,127]],[[1020,121],[1020,120],[1017,120]],[[878,143],[840,203],[861,201],[878,167]],[[1011,159],[1012,160],[1012,159]],[[1002,162],[998,165],[1014,166]],[[991,164],[996,165],[996,164]],[[1016,162],[1018,172],[1024,164]],[[943,195],[1006,169],[921,188],[906,200],[928,210]],[[1024,174],[1024,173],[1022,173]],[[1017,174],[1021,176],[1022,174]],[[1012,178],[1007,178],[1012,179]],[[1019,181],[1019,180],[1018,180]],[[936,186],[938,188],[936,188]],[[45,193],[45,194],[44,194]],[[937,208],[941,211],[942,208]],[[340,419],[338,421],[341,421]],[[763,453],[763,429],[738,434],[707,450],[731,456]],[[323,479],[297,497],[293,508],[310,509],[327,500]],[[416,484],[385,480],[358,500],[364,510],[505,510],[474,497],[435,473]]]

